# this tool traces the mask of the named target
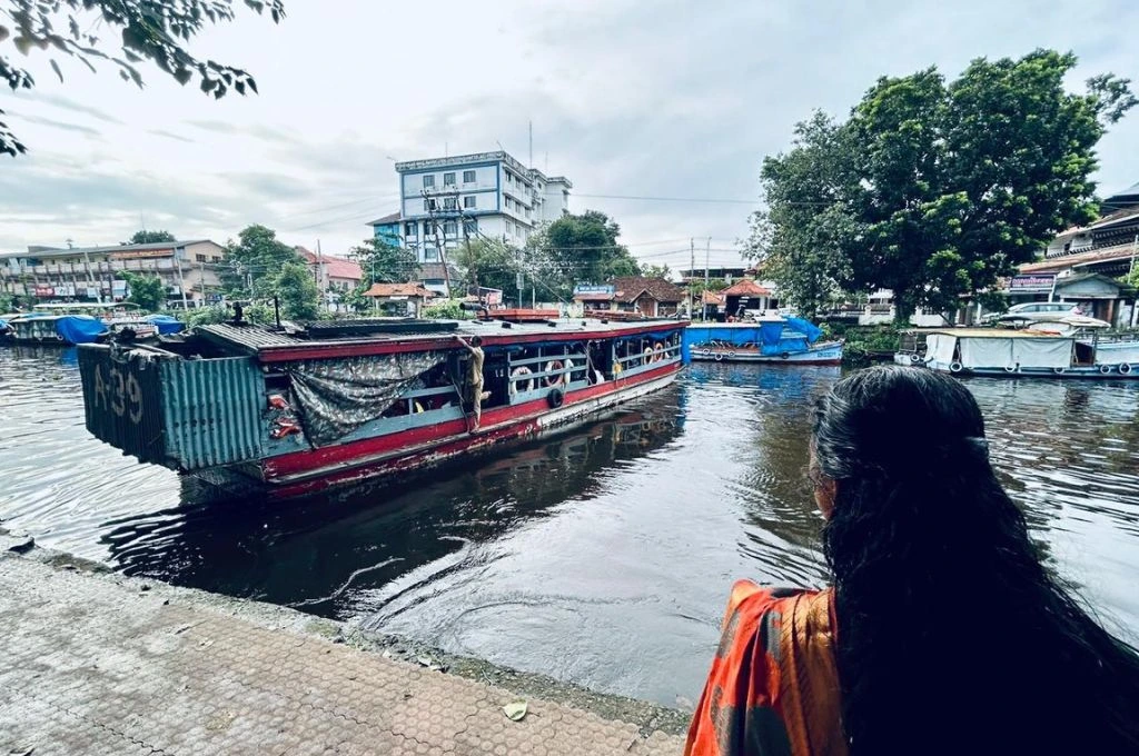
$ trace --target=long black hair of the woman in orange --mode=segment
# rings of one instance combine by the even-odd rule
[[[1139,753],[1139,654],[1041,564],[965,386],[855,372],[812,457],[852,754]]]

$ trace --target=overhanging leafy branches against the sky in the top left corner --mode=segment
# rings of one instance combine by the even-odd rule
[[[259,15],[267,8],[273,23],[285,17],[281,0],[244,0]],[[92,60],[113,63],[124,81],[140,89],[142,75],[136,67],[150,60],[178,83],[187,84],[195,75],[198,88],[214,98],[230,89],[254,93],[257,84],[247,72],[215,60],[199,59],[186,43],[206,25],[231,22],[233,0],[0,0],[0,18],[10,19],[11,27],[0,23],[0,79],[15,91],[32,89],[32,74],[14,65],[5,55],[5,42],[22,55],[48,51],[54,56],[77,59],[92,72]],[[66,20],[66,28],[64,23]],[[56,28],[59,25],[60,28]],[[110,30],[110,40],[96,35]],[[56,57],[49,59],[52,71],[63,81]],[[3,110],[0,110],[3,115]],[[0,121],[0,154],[16,155],[27,148]]]

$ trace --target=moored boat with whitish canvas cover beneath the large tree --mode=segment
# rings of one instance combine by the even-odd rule
[[[1073,315],[1023,330],[948,328],[907,331],[899,364],[954,375],[1007,378],[1139,378],[1139,339],[1100,336],[1108,323]]]

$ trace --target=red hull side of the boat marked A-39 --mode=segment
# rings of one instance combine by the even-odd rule
[[[570,392],[565,402],[556,409],[542,398],[485,410],[481,428],[474,433],[468,432],[466,421],[453,420],[273,457],[261,462],[261,475],[276,492],[296,495],[362,478],[431,467],[505,441],[536,436],[543,430],[642,396],[672,381],[680,367],[679,361],[672,362],[630,378]]]

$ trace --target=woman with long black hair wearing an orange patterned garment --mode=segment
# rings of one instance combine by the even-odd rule
[[[1041,564],[960,383],[838,381],[810,478],[834,584],[736,584],[687,754],[1139,754],[1139,654]]]

